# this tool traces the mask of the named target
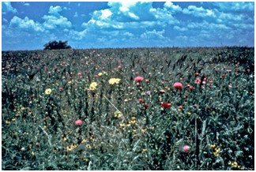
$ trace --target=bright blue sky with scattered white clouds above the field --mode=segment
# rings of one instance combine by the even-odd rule
[[[2,50],[254,47],[254,2],[2,2]]]

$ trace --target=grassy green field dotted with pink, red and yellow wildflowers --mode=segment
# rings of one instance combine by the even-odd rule
[[[2,170],[254,170],[254,48],[3,51]]]

